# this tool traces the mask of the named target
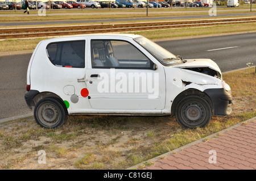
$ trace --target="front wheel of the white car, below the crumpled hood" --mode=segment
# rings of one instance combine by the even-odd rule
[[[201,96],[189,95],[177,104],[175,117],[183,128],[205,127],[212,119],[212,108]]]

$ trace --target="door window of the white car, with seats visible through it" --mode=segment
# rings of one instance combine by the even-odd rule
[[[119,40],[91,41],[93,68],[150,69],[151,61],[134,45]]]

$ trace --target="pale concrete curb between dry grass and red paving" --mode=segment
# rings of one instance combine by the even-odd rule
[[[148,161],[145,161],[145,162],[139,163],[139,164],[137,164],[137,165],[135,165],[135,166],[129,167],[129,168],[127,168],[126,170],[135,170],[135,169],[138,169],[140,166],[144,166],[145,163],[154,163],[154,162],[156,162],[156,161],[158,161],[158,160],[160,160],[160,159],[163,159],[163,158],[167,157],[168,155],[177,153],[177,152],[182,151],[182,150],[184,150],[184,149],[187,149],[187,148],[189,148],[189,147],[191,147],[191,146],[193,146],[193,145],[199,144],[200,142],[203,142],[204,140],[207,140],[207,139],[210,139],[210,138],[213,138],[213,137],[218,137],[220,134],[223,134],[223,133],[225,133],[225,132],[228,132],[228,131],[230,131],[230,130],[232,130],[232,129],[234,129],[234,128],[240,127],[242,124],[246,124],[246,123],[248,123],[248,122],[250,122],[250,121],[254,121],[254,120],[256,120],[256,116],[253,117],[253,118],[251,118],[251,119],[249,119],[249,120],[245,120],[245,121],[242,121],[241,123],[238,123],[238,124],[236,124],[236,125],[233,125],[232,127],[223,129],[223,130],[220,131],[220,132],[213,133],[213,134],[211,134],[211,135],[209,135],[209,136],[207,136],[207,137],[201,138],[200,140],[194,141],[194,142],[192,142],[192,143],[190,143],[190,144],[181,146],[180,148],[177,148],[177,149],[175,149],[175,150],[172,150],[172,151],[169,151],[169,152],[164,153],[164,154],[162,154],[162,155],[159,155],[158,157],[149,159]]]

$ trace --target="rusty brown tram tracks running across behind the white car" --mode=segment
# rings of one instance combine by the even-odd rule
[[[159,30],[184,27],[216,26],[238,23],[256,23],[256,17],[252,18],[227,18],[208,20],[184,20],[172,22],[151,22],[151,23],[123,23],[103,24],[91,26],[66,26],[66,27],[40,27],[40,28],[9,28],[0,29],[0,39],[15,39],[23,37],[80,35],[86,33],[102,32],[127,32],[143,30]]]

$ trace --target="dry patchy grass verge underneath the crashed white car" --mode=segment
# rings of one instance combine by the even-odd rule
[[[183,129],[170,116],[69,116],[57,129],[40,128],[33,117],[2,123],[0,169],[126,169],[256,116],[255,68],[223,77],[233,112],[206,128]],[[39,150],[46,164],[38,163]]]

